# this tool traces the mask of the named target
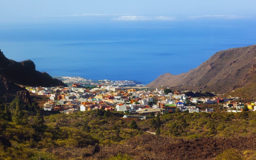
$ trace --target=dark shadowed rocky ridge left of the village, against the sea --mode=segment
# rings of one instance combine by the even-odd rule
[[[16,62],[14,60],[7,59],[3,52],[0,50],[0,75],[6,79],[21,85],[28,86],[58,86],[64,84],[58,79],[53,79],[49,74],[45,72],[36,71],[36,66],[33,61],[25,60],[22,62]]]

